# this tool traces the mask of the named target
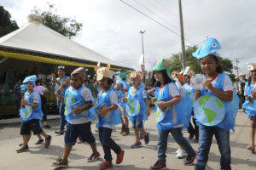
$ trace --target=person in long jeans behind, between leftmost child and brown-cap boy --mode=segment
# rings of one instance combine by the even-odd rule
[[[69,82],[70,82],[70,78],[65,76],[65,66],[64,65],[59,65],[58,66],[58,77],[55,77],[55,74],[52,74],[52,85],[50,87],[50,89],[52,91],[54,91],[54,93],[56,94],[56,91],[61,88],[62,90],[62,97],[64,98],[64,94],[65,91],[67,90],[67,88],[69,88]],[[61,86],[61,82],[62,82],[62,86]],[[65,104],[61,103],[61,101],[59,100],[59,98],[57,97],[57,105],[59,107],[59,114],[60,114],[60,128],[59,130],[55,131],[55,133],[57,134],[63,134],[64,133],[64,127],[66,124],[65,121],[65,116],[64,116],[64,111],[65,111]]]

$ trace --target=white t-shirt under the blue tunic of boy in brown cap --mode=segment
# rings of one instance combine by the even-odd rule
[[[81,96],[83,97],[85,102],[92,101],[92,95],[91,95],[89,88],[86,88],[86,87],[82,88]],[[88,111],[89,110],[83,111],[83,112],[86,113]],[[90,120],[90,118],[80,117],[79,119],[67,120],[67,122],[69,122],[71,124],[82,124],[82,123],[86,123],[86,122],[91,122],[91,120]]]

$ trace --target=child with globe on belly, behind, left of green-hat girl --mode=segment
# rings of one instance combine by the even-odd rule
[[[145,144],[149,143],[149,133],[147,133],[144,129],[143,121],[148,120],[148,116],[150,115],[150,112],[149,112],[147,94],[143,86],[140,84],[141,83],[140,74],[138,72],[131,72],[130,80],[131,80],[132,87],[129,89],[128,102],[130,102],[131,99],[135,99],[140,105],[140,110],[137,111],[136,115],[135,113],[132,113],[130,109],[129,111],[127,111],[130,113],[129,114],[130,121],[132,122],[132,128],[134,128],[134,133],[136,137],[136,141],[134,144],[131,144],[131,148],[138,148],[142,146],[142,143],[140,141],[139,131],[143,133],[144,143]],[[128,106],[129,108],[131,107],[130,104]],[[137,109],[137,108],[133,108],[133,109]]]

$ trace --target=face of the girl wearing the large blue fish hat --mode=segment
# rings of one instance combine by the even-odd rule
[[[202,58],[200,65],[201,65],[201,70],[206,75],[212,75],[216,73],[216,68],[218,67],[218,63],[216,63],[215,59],[213,59],[213,56],[207,56]]]

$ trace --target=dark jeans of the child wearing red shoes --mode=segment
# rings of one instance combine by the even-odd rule
[[[121,148],[111,138],[112,129],[108,127],[99,127],[99,137],[104,150],[104,158],[106,161],[112,161],[111,150],[119,154]]]

